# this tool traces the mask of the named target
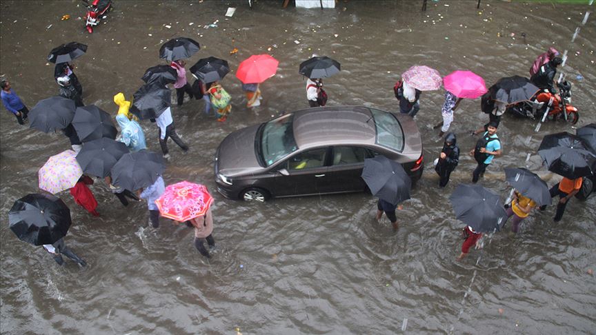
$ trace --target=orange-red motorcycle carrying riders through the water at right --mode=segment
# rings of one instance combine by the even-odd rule
[[[563,120],[575,125],[579,120],[577,108],[571,105],[571,83],[563,81],[557,83],[559,94],[539,91],[530,101],[523,101],[510,106],[507,111],[519,117],[539,119]]]

